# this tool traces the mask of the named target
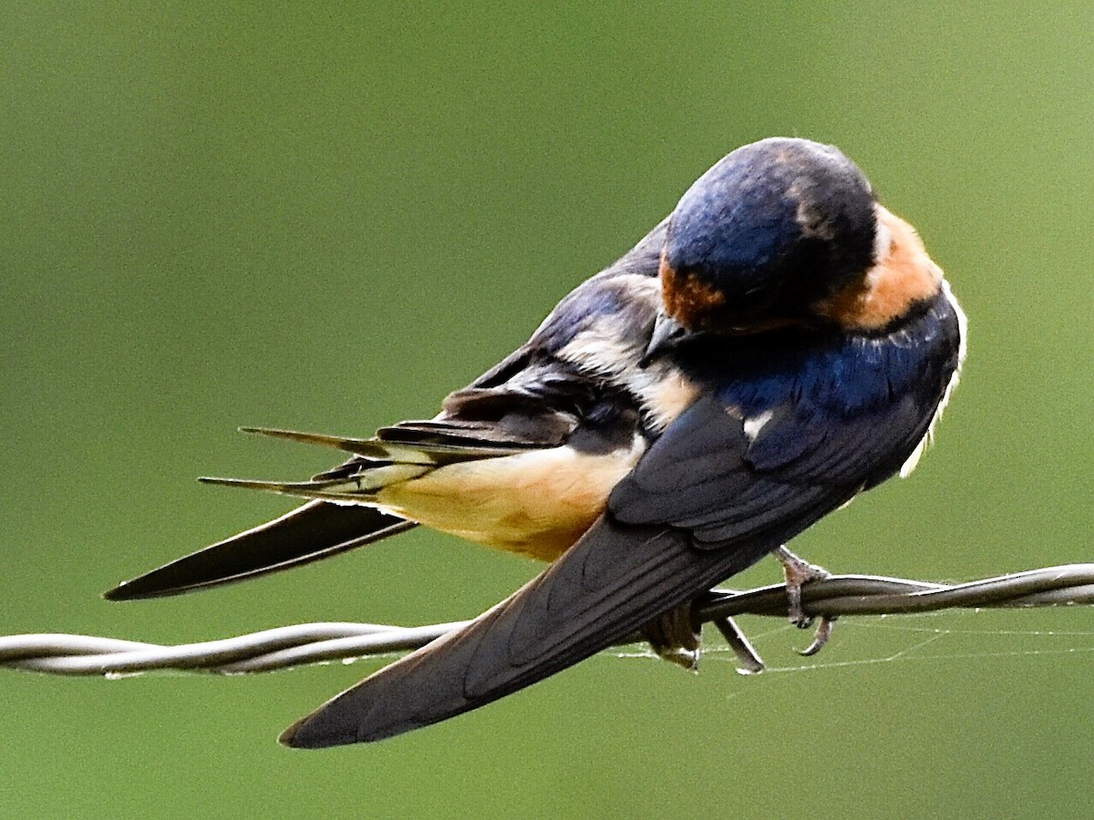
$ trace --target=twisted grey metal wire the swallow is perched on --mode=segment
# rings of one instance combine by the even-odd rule
[[[877,575],[833,575],[802,587],[806,614],[830,623],[846,616],[928,612],[951,608],[1050,607],[1094,604],[1094,564],[1066,564],[964,584],[932,584]],[[784,584],[745,591],[715,589],[696,619],[722,631],[747,671],[763,663],[733,616],[787,617]],[[94,635],[0,636],[0,666],[67,676],[120,677],[149,671],[220,675],[264,672],[306,664],[386,655],[424,646],[469,621],[424,626],[302,623],[202,643],[160,645]],[[633,635],[624,643],[642,640]]]

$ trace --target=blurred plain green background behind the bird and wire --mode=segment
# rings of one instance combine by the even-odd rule
[[[185,642],[493,604],[536,566],[423,531],[201,595],[98,595],[289,507],[194,477],[334,460],[236,425],[432,414],[771,134],[852,156],[971,320],[933,454],[799,551],[935,579],[1094,558],[1087,0],[362,5],[4,4],[0,632]],[[274,739],[380,661],[4,672],[0,815],[1089,811],[1091,610],[848,620],[818,668],[805,635],[745,626],[793,670],[602,655],[321,753]]]

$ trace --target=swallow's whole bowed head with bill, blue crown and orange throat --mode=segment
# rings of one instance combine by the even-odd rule
[[[772,138],[728,154],[684,194],[661,257],[663,311],[651,352],[698,332],[790,325],[878,325],[869,277],[901,257],[889,313],[926,297],[941,271],[831,145]],[[886,276],[894,289],[894,277]],[[892,296],[892,293],[889,294]]]

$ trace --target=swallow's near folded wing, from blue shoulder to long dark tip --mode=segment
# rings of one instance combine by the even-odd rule
[[[804,366],[794,378],[730,379],[696,400],[554,565],[469,625],[336,696],[282,742],[379,740],[535,683],[635,634],[893,475],[926,435],[952,356],[924,345],[901,379],[893,361],[872,372],[876,350],[860,353],[848,354],[854,384],[821,361],[815,379]],[[756,384],[761,402],[746,395]]]

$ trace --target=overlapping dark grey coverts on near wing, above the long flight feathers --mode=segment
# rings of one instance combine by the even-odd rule
[[[766,539],[788,522],[801,531],[899,469],[932,410],[905,396],[858,419],[771,418],[752,438],[703,399],[615,487],[609,509],[621,523],[687,529],[700,549]]]

